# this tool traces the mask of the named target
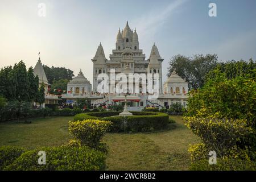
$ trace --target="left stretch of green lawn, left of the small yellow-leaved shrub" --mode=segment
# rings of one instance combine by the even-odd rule
[[[51,117],[9,121],[0,123],[0,145],[15,145],[26,148],[60,146],[69,140],[68,121],[73,117]]]

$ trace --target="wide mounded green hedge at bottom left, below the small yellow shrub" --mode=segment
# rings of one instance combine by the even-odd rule
[[[39,165],[39,151],[46,152],[46,164]],[[90,171],[105,170],[104,152],[86,146],[43,147],[24,152],[5,170],[10,171]]]

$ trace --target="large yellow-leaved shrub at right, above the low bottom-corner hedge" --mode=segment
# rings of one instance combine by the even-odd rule
[[[232,150],[236,153],[236,150],[234,150],[236,143],[252,132],[245,119],[196,117],[185,117],[184,119],[186,121],[185,125],[201,138],[208,152],[214,150],[217,152],[218,157],[231,155],[230,151]],[[236,156],[236,154],[233,154],[233,156]]]

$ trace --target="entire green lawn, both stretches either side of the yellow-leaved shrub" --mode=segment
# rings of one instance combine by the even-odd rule
[[[189,143],[200,139],[184,126],[180,116],[170,130],[154,133],[108,133],[110,152],[106,160],[109,170],[186,170],[190,164]],[[60,146],[68,142],[68,121],[73,117],[29,119],[32,123],[0,123],[0,145],[26,148]],[[22,122],[22,121],[21,121]]]

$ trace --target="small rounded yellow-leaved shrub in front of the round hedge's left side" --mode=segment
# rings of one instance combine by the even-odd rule
[[[69,133],[79,140],[82,145],[96,148],[101,143],[101,138],[110,129],[112,123],[98,119],[84,121],[69,121]]]

